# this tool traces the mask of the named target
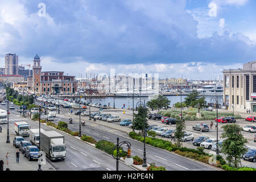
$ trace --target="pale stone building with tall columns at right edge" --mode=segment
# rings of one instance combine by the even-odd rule
[[[241,69],[225,69],[224,102],[229,110],[256,112],[256,61],[243,64]]]

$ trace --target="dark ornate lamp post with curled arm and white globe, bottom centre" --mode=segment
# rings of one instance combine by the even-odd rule
[[[117,160],[117,162],[116,162],[116,164],[117,164],[117,171],[118,171],[118,163],[119,163],[119,159],[120,159],[119,155],[122,155],[124,153],[124,151],[120,152],[119,148],[123,144],[126,144],[126,146],[128,147],[128,149],[127,149],[127,157],[125,158],[125,164],[127,166],[131,166],[131,164],[133,164],[133,158],[131,158],[131,143],[130,142],[126,142],[126,141],[123,141],[123,142],[119,143],[119,138],[117,137],[117,145],[114,147],[114,150],[115,150],[115,148],[117,148],[117,156],[114,156],[114,150],[112,151],[113,158]]]

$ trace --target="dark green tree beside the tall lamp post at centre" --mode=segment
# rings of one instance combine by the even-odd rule
[[[139,106],[138,107],[138,114],[134,114],[135,118],[134,118],[134,125],[133,128],[135,130],[143,130],[144,129],[144,122],[146,122],[146,128],[148,127],[148,123],[147,123],[147,112],[148,109],[146,107],[143,106]]]

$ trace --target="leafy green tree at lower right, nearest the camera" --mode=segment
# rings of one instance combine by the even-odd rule
[[[225,125],[222,128],[224,132],[221,137],[225,140],[221,144],[221,152],[227,156],[229,165],[233,164],[237,168],[238,163],[241,163],[241,156],[247,152],[247,140],[241,134],[242,127],[237,124]]]

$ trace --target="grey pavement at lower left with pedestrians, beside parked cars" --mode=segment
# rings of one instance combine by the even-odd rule
[[[9,168],[10,171],[37,171],[38,170],[38,160],[28,161],[27,158],[24,157],[19,151],[19,163],[16,163],[16,151],[19,148],[15,148],[13,146],[13,139],[15,137],[11,132],[10,135],[10,143],[6,143],[7,131],[6,128],[3,128],[2,133],[0,133],[0,160],[3,160],[3,170]],[[6,153],[9,152],[9,164],[6,164]],[[55,169],[46,162],[45,165],[42,165],[43,171],[55,171]]]

